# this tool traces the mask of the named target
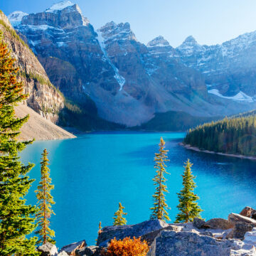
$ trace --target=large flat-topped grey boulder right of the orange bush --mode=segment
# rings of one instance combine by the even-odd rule
[[[162,230],[152,243],[147,256],[255,255],[252,248],[246,250],[243,245],[239,240],[218,240],[188,231]]]

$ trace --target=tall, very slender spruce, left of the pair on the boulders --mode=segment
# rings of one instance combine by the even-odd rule
[[[166,161],[169,161],[167,153],[169,150],[164,149],[164,139],[161,137],[159,143],[159,153],[155,153],[154,168],[156,169],[156,176],[154,176],[154,186],[156,186],[156,191],[153,195],[154,198],[154,207],[150,208],[152,210],[151,220],[170,220],[167,213],[169,207],[166,204],[166,199],[164,193],[167,193],[166,178],[164,174],[169,174],[166,171]]]

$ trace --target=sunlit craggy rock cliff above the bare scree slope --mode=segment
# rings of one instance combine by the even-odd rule
[[[50,83],[41,63],[19,38],[3,13],[0,13],[0,30],[17,60],[18,78],[23,81],[25,92],[29,94],[26,104],[46,119],[56,122],[58,112],[64,107],[63,95]]]

